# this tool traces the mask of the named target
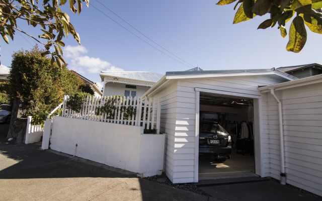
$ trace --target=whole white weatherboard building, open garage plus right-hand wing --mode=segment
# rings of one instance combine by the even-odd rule
[[[145,96],[160,103],[164,170],[173,183],[253,168],[261,177],[322,195],[321,75],[297,79],[274,68],[167,72]],[[209,165],[199,158],[200,121],[207,118],[231,132],[235,149],[227,163],[209,159]],[[250,126],[249,134],[240,139],[238,125],[243,123]]]

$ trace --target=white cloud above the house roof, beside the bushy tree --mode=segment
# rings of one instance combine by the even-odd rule
[[[86,55],[87,52],[84,46],[66,46],[64,56],[70,59],[69,68],[78,73],[99,73],[101,70],[123,71],[122,68],[115,67],[108,61]]]

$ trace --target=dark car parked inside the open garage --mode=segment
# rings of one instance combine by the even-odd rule
[[[199,154],[210,155],[223,162],[230,158],[231,136],[217,122],[201,121],[199,124]]]

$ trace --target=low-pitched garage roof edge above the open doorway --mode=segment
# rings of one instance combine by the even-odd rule
[[[240,69],[240,70],[196,70],[196,71],[171,71],[166,72],[159,81],[149,88],[142,97],[153,93],[159,87],[164,86],[172,79],[187,79],[187,78],[206,78],[206,77],[229,77],[229,76],[247,76],[247,75],[267,75],[279,77],[281,80],[296,80],[298,78],[282,72],[275,68],[270,69]]]

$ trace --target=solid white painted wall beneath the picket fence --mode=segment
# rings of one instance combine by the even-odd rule
[[[137,126],[54,117],[50,148],[142,176],[158,174],[165,135],[140,133]]]

